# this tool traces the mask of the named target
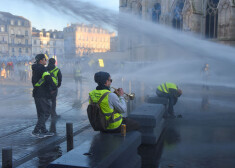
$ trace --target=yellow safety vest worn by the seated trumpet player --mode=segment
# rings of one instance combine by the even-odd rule
[[[97,103],[103,94],[106,92],[110,92],[109,90],[93,90],[89,93],[92,101]],[[110,92],[111,93],[111,92]],[[109,121],[109,125],[106,129],[113,130],[118,128],[122,124],[122,115],[120,113],[114,113],[114,110],[109,107],[109,96],[105,96],[105,98],[100,103],[101,111],[105,114],[105,118]],[[89,101],[90,103],[90,101]],[[113,114],[113,117],[112,117]],[[112,117],[112,118],[110,118]]]

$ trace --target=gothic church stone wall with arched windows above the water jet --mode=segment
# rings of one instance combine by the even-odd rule
[[[235,46],[234,0],[120,0],[120,12]]]

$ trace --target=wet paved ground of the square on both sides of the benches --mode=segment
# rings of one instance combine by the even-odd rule
[[[15,166],[43,168],[66,153],[66,122],[74,123],[77,134],[74,146],[84,142],[92,132],[85,111],[91,89],[88,86],[82,89],[80,100],[73,81],[64,83],[57,106],[62,117],[47,122],[47,128],[57,134],[43,140],[30,135],[37,121],[30,83],[19,85],[9,81],[0,86],[0,147],[13,148]],[[185,89],[175,107],[176,114],[182,114],[183,118],[169,120],[159,143],[145,146],[144,168],[235,167],[235,94],[226,89],[202,93]]]

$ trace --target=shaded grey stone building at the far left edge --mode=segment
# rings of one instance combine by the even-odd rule
[[[31,54],[31,22],[21,16],[0,12],[0,57],[30,57]]]

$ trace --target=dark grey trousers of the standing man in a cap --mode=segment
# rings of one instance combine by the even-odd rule
[[[34,132],[47,132],[46,121],[50,116],[51,102],[47,98],[36,98],[34,97],[38,121],[34,128]]]

